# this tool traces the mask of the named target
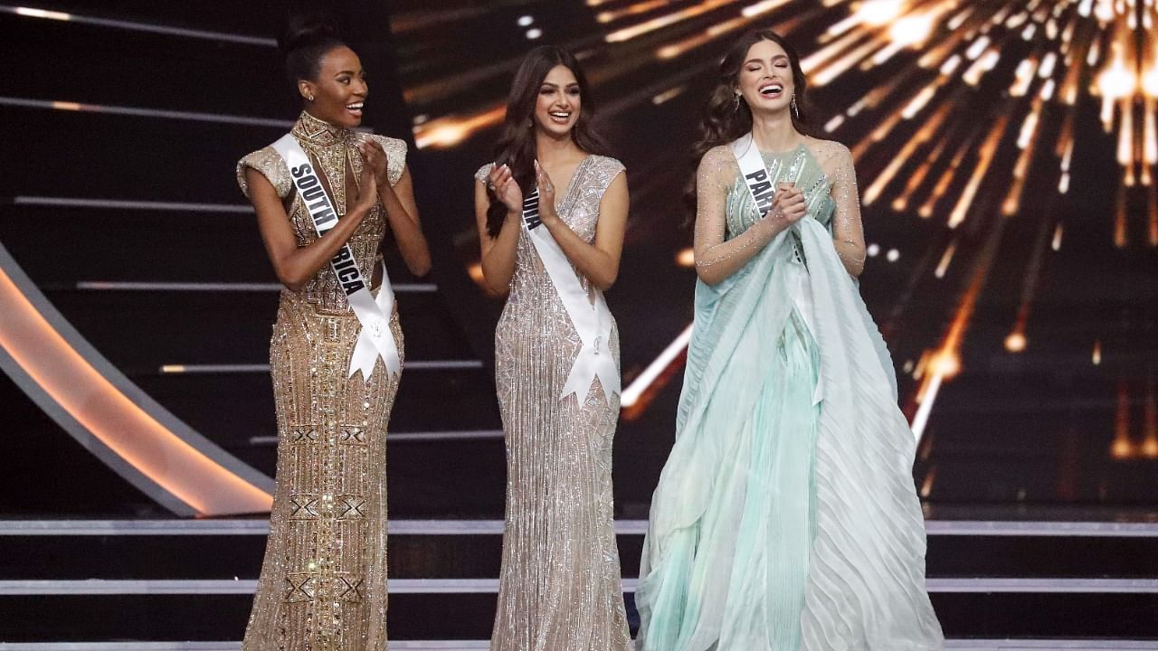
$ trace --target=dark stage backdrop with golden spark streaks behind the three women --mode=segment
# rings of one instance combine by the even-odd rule
[[[1152,66],[1148,56],[1141,63],[1130,59],[1153,43],[1145,23],[1131,31],[1127,16],[1083,16],[1068,2],[1045,2],[1033,14],[1026,13],[1028,2],[1019,1],[958,9],[943,2],[895,5],[900,13],[879,25],[871,12],[856,14],[844,2],[330,6],[369,75],[366,124],[412,145],[408,160],[437,265],[425,280],[439,291],[400,295],[408,357],[484,361],[477,371],[408,373],[391,432],[499,426],[488,365],[501,306],[483,298],[468,273],[478,255],[471,175],[491,158],[493,116],[501,117],[491,111],[501,107],[522,53],[537,43],[557,43],[579,56],[593,82],[601,130],[628,167],[626,247],[620,280],[608,293],[623,337],[626,386],[690,322],[695,277],[676,263],[690,244],[680,193],[690,170],[696,115],[717,61],[739,30],[770,27],[786,34],[806,60],[848,38],[833,57],[809,61],[814,80],[864,46],[864,56],[845,72],[813,88],[813,124],[852,147],[866,197],[877,180],[891,175],[864,206],[867,239],[879,254],[868,259],[862,293],[893,352],[910,418],[937,360],[959,364],[960,372],[946,376],[936,395],[915,468],[932,513],[1153,504],[1158,199],[1143,174],[1153,166],[1131,162],[1155,145],[1153,131],[1145,131],[1153,98],[1139,83],[1114,104],[1108,131],[1099,119],[1099,80],[1114,57],[1122,57],[1138,79]],[[272,38],[287,7],[54,2],[53,8]],[[743,14],[761,8],[768,10]],[[926,38],[880,64],[859,65],[894,42],[892,24],[922,15],[931,16]],[[523,16],[528,24],[520,24],[527,23]],[[843,23],[850,16],[852,22]],[[841,24],[852,28],[827,35]],[[646,27],[654,29],[622,31]],[[532,29],[541,30],[536,38],[528,38]],[[174,376],[157,368],[264,363],[276,293],[117,293],[76,285],[272,281],[254,220],[241,213],[47,209],[16,197],[241,205],[235,161],[286,127],[59,110],[14,100],[288,124],[298,105],[277,50],[267,43],[149,35],[12,12],[0,12],[0,115],[7,131],[0,139],[0,242],[145,390],[272,474],[273,447],[252,442],[276,433],[266,375]],[[672,47],[681,53],[668,57]],[[1089,56],[1091,47],[1098,57]],[[985,63],[989,52],[992,59]],[[1011,90],[1019,66],[1039,72],[1051,52],[1056,59],[1048,75],[1035,74],[1024,94]],[[954,56],[958,67],[941,73],[941,64]],[[988,70],[970,82],[965,73],[974,65]],[[1050,82],[1055,92],[1041,98]],[[926,88],[932,88],[928,103],[902,117]],[[1072,92],[1072,102],[1064,89]],[[1036,126],[1025,130],[1021,147],[1031,115]],[[843,122],[827,131],[836,116]],[[1124,166],[1117,160],[1123,131]],[[439,140],[448,133],[457,139]],[[1058,184],[1067,163],[1063,193]],[[1018,188],[1012,196],[1019,205],[1003,213],[1003,202]],[[954,207],[969,196],[965,220],[951,227]],[[901,197],[907,205],[896,204]],[[938,275],[948,249],[952,257]],[[893,262],[889,251],[895,251]],[[396,283],[413,280],[397,261],[390,269]],[[1010,350],[1007,337],[1019,321],[1026,346]],[[646,404],[622,422],[615,452],[621,515],[646,513],[674,436],[680,375],[681,367],[669,368]],[[0,400],[6,444],[0,514],[156,510],[7,379]],[[398,442],[390,455],[393,514],[501,514],[501,441]]]

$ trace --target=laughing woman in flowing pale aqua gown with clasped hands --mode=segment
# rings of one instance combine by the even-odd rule
[[[775,32],[745,35],[720,73],[697,148],[695,329],[637,646],[941,649],[914,439],[855,281],[852,156],[807,136],[804,73]]]

